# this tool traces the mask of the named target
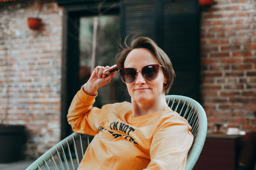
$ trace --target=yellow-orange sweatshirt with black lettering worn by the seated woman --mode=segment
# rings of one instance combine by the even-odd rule
[[[169,107],[132,117],[128,102],[92,107],[82,89],[68,110],[73,131],[94,136],[78,169],[185,169],[193,135],[188,122]]]

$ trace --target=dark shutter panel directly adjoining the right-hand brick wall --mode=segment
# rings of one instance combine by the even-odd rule
[[[163,1],[163,50],[177,78],[170,94],[200,101],[199,7],[197,1]]]

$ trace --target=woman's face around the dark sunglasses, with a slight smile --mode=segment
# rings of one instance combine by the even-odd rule
[[[149,64],[160,64],[160,62],[154,56],[154,53],[147,48],[136,48],[125,59],[124,67],[132,67],[140,71],[133,83],[126,84],[132,101],[148,102],[164,94],[164,83],[167,83],[167,79],[164,77],[161,67],[159,67],[159,74],[156,79],[147,81],[143,78],[141,69]]]

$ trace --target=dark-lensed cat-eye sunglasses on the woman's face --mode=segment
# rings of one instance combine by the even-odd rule
[[[120,69],[119,72],[121,79],[122,81],[124,81],[124,83],[133,83],[136,80],[139,72],[141,72],[145,80],[152,81],[155,80],[159,74],[159,66],[163,67],[159,64],[150,64],[148,66],[143,67],[141,71],[127,67],[124,69]]]

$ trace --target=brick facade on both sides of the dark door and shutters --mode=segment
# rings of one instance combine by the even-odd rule
[[[216,123],[256,129],[256,2],[214,0],[202,12],[202,101],[209,131]],[[38,1],[0,10],[0,119],[24,124],[26,156],[60,140],[62,8],[47,1],[38,31],[27,18]]]

